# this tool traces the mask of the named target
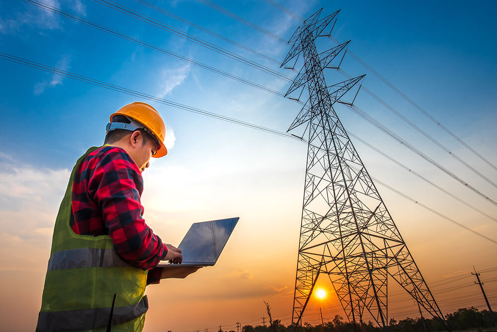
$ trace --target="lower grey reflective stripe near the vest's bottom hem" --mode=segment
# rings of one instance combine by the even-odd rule
[[[112,314],[112,325],[119,325],[145,314],[149,308],[147,296],[137,305],[115,307]],[[38,315],[36,331],[87,331],[107,326],[110,316],[109,308],[41,312]]]

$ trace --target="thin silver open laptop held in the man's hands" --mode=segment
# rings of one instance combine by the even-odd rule
[[[183,262],[170,264],[162,261],[158,267],[212,266],[228,242],[240,218],[204,221],[194,223],[186,233],[178,248],[181,249]]]

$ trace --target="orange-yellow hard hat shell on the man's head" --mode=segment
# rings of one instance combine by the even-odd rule
[[[147,133],[149,133],[160,145],[154,158],[161,158],[167,155],[164,138],[166,137],[166,125],[159,112],[152,106],[144,102],[133,102],[121,107],[117,112],[110,115],[110,122],[114,115],[124,115],[141,123]],[[110,129],[110,128],[109,128]],[[125,128],[123,128],[125,129]]]

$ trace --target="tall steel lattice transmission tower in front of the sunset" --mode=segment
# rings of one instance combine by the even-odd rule
[[[306,87],[309,90],[309,99],[288,129],[305,126],[303,140],[308,143],[292,323],[295,326],[301,323],[318,276],[326,273],[354,326],[367,311],[376,324],[387,330],[390,276],[448,330],[442,312],[333,109],[336,102],[346,103],[342,96],[354,86],[360,88],[364,76],[327,86],[323,71],[338,69],[339,65],[331,63],[340,59],[339,54],[346,51],[348,42],[318,53],[317,37],[330,36],[322,33],[338,14],[337,11],[320,19],[321,10],[295,31],[288,42],[293,46],[281,65],[293,69],[302,55],[304,66],[285,96]],[[292,99],[300,101],[301,97],[302,92]]]

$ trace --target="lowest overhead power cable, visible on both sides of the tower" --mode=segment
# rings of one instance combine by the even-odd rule
[[[180,104],[180,103],[177,103],[177,102],[174,102],[174,101],[170,101],[170,100],[167,100],[167,99],[164,99],[164,98],[159,98],[159,97],[147,94],[147,93],[139,92],[139,91],[136,91],[136,90],[133,90],[133,89],[128,89],[126,87],[122,87],[122,86],[119,86],[119,85],[115,85],[115,84],[111,84],[111,83],[106,83],[106,82],[94,80],[94,79],[91,79],[91,78],[88,78],[88,77],[85,77],[85,76],[82,76],[82,75],[78,75],[78,74],[71,73],[71,72],[68,72],[68,71],[65,71],[65,70],[57,69],[55,67],[43,65],[43,64],[40,64],[40,63],[37,63],[37,62],[34,62],[34,61],[30,61],[30,60],[24,59],[24,58],[16,57],[16,56],[10,55],[8,53],[0,52],[0,59],[7,60],[7,61],[10,61],[10,62],[13,62],[13,63],[20,64],[20,65],[24,65],[26,67],[30,67],[30,68],[42,70],[44,72],[52,73],[52,74],[55,74],[55,75],[60,75],[60,76],[67,77],[67,78],[70,78],[70,79],[73,79],[73,80],[77,80],[77,81],[81,81],[81,82],[84,82],[84,83],[90,83],[92,85],[101,86],[101,87],[104,87],[106,89],[110,89],[110,90],[113,90],[113,91],[122,92],[122,93],[126,93],[126,94],[133,95],[133,96],[136,96],[136,97],[140,97],[140,98],[144,98],[144,99],[147,99],[147,100],[155,101],[155,102],[158,102],[158,103],[161,103],[161,104],[165,104],[165,105],[169,105],[171,107],[179,108],[179,109],[182,109],[182,110],[185,110],[185,111],[189,111],[189,112],[193,112],[193,113],[197,113],[197,114],[209,116],[209,117],[212,117],[212,118],[216,118],[216,119],[219,119],[219,120],[223,120],[223,121],[235,123],[235,124],[238,124],[238,125],[241,125],[241,126],[252,128],[252,129],[257,129],[257,130],[260,130],[260,131],[263,131],[263,132],[267,132],[269,134],[283,136],[283,137],[286,137],[286,138],[291,138],[291,139],[295,139],[295,140],[299,140],[299,141],[308,143],[306,140],[302,139],[301,137],[297,137],[297,136],[294,136],[294,135],[291,135],[291,134],[288,134],[288,133],[284,133],[284,132],[281,132],[281,131],[278,131],[278,130],[275,130],[275,129],[262,127],[262,126],[259,126],[259,125],[255,125],[255,124],[249,123],[247,121],[242,121],[242,120],[230,118],[230,117],[227,117],[227,116],[224,116],[224,115],[216,114],[216,113],[213,113],[213,112],[205,111],[205,110],[202,110],[202,109],[199,109],[199,108],[196,108],[196,107],[187,106],[187,105]],[[391,189],[392,191],[396,192],[397,194],[401,195],[402,197],[407,198],[407,199],[413,201],[414,203],[418,204],[419,206],[427,209],[428,211],[431,211],[431,212],[435,213],[436,215],[438,215],[438,216],[440,216],[440,217],[442,217],[442,218],[444,218],[446,220],[449,220],[450,222],[454,223],[455,225],[458,225],[459,227],[461,227],[461,228],[463,228],[463,229],[465,229],[465,230],[467,230],[467,231],[469,231],[469,232],[471,232],[471,233],[473,233],[475,235],[478,235],[478,236],[480,236],[480,237],[482,237],[482,238],[484,238],[486,240],[489,240],[489,241],[497,244],[497,241],[492,240],[492,239],[486,237],[485,235],[480,234],[480,233],[478,233],[478,232],[476,232],[476,231],[474,231],[474,230],[472,230],[472,229],[470,229],[470,228],[468,228],[468,227],[466,227],[466,226],[464,226],[464,225],[462,225],[462,224],[454,221],[453,219],[451,219],[451,218],[443,215],[442,213],[437,212],[437,211],[431,209],[430,207],[428,207],[428,206],[426,206],[424,204],[419,203],[417,200],[414,200],[414,198],[411,198],[408,195],[402,193],[401,191],[399,191],[397,189],[394,189],[393,187],[391,187],[391,186],[389,186],[389,185],[387,185],[387,184],[385,184],[383,182],[380,182],[378,179],[375,179],[375,178],[373,178],[373,179],[375,181],[378,181],[378,183],[380,183],[380,184],[386,186],[387,188]]]

